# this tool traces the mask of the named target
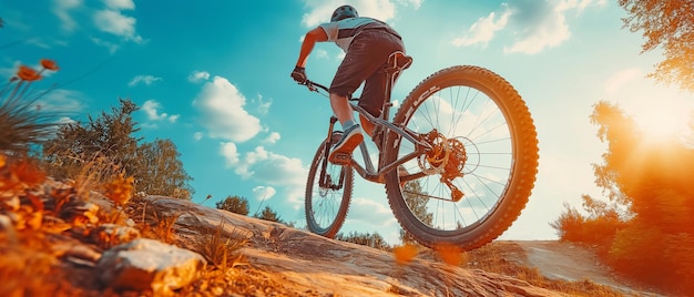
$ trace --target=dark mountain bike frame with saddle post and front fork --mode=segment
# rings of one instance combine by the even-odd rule
[[[401,53],[400,53],[401,54]],[[382,112],[380,114],[380,116],[374,116],[371,114],[369,114],[366,110],[364,110],[361,106],[359,106],[358,104],[353,103],[354,101],[358,101],[359,99],[349,99],[349,105],[351,105],[351,109],[354,111],[356,111],[357,113],[359,113],[359,115],[364,116],[367,119],[367,121],[374,123],[375,127],[374,127],[374,134],[381,134],[381,141],[379,145],[385,145],[387,139],[385,136],[391,137],[395,136],[392,133],[398,134],[401,139],[405,139],[409,142],[411,142],[415,145],[415,152],[407,154],[405,156],[401,156],[397,160],[395,160],[394,162],[390,162],[388,164],[385,164],[384,160],[384,154],[385,154],[385,150],[384,147],[379,147],[379,154],[378,154],[378,167],[374,166],[374,163],[371,162],[371,158],[369,157],[369,151],[368,147],[366,146],[366,142],[361,142],[361,144],[359,144],[359,152],[361,153],[363,160],[364,160],[364,165],[359,164],[356,162],[356,160],[353,157],[351,162],[349,163],[349,166],[351,166],[353,168],[355,168],[355,171],[357,172],[357,174],[359,174],[364,180],[370,181],[370,182],[375,182],[375,183],[384,183],[385,181],[385,175],[387,173],[389,173],[390,171],[392,171],[394,168],[397,168],[399,165],[405,164],[406,162],[420,156],[422,153],[431,150],[431,145],[427,142],[422,142],[421,141],[421,135],[418,133],[415,133],[410,130],[408,130],[405,126],[397,126],[395,124],[392,124],[391,122],[388,121],[389,116],[390,116],[390,107],[392,106],[392,103],[390,102],[390,96],[391,96],[391,89],[392,85],[395,84],[398,74],[407,69],[409,66],[409,64],[411,63],[411,60],[406,60],[406,62],[404,64],[399,64],[398,63],[398,57],[400,59],[408,59],[406,58],[404,54],[398,55],[398,53],[394,53],[391,54],[391,57],[388,59],[389,63],[386,68],[384,68],[382,71],[386,72],[387,74],[387,81],[386,81],[386,100],[384,101],[384,106],[382,106]],[[329,90],[328,88],[326,88],[325,85],[322,85],[319,83],[313,82],[313,81],[306,81],[305,83],[308,89],[310,91],[314,92],[318,92],[317,89],[322,89],[324,90],[326,93],[329,94]],[[329,127],[328,127],[328,135],[327,135],[327,141],[325,142],[325,158],[324,162],[327,162],[327,155],[329,154],[329,150],[330,150],[330,145],[331,145],[331,137],[333,137],[333,131],[334,131],[334,126],[335,126],[335,122],[337,122],[337,117],[335,115],[330,116],[330,123],[329,123]],[[324,164],[326,165],[326,164]],[[325,166],[324,170],[325,171]],[[324,173],[322,173],[322,176],[324,175]],[[401,182],[407,182],[407,181],[411,181],[415,178],[419,178],[421,176],[426,175],[425,173],[416,173],[416,174],[407,174],[405,176],[400,176],[400,181]],[[323,181],[323,178],[320,178]],[[341,182],[340,182],[341,183]],[[338,185],[339,186],[339,185]]]

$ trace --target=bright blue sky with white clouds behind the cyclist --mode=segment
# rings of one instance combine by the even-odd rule
[[[214,207],[247,197],[304,226],[307,167],[331,110],[289,79],[303,34],[349,3],[389,22],[415,58],[396,102],[429,74],[457,64],[488,68],[527,101],[540,140],[530,202],[504,239],[553,239],[563,204],[601,196],[591,163],[601,161],[589,116],[600,100],[620,104],[654,133],[685,124],[692,94],[645,79],[661,52],[641,54],[640,33],[606,0],[35,0],[3,1],[0,76],[19,64],[55,60],[61,70],[34,88],[42,100],[85,121],[130,98],[145,141],[171,139],[194,178],[194,201]],[[343,54],[320,43],[310,79],[329,83]],[[343,232],[378,232],[397,243],[381,185],[357,178]]]

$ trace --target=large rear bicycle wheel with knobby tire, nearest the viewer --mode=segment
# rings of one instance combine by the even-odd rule
[[[410,92],[394,123],[431,145],[402,165],[406,172],[386,177],[409,236],[470,250],[520,215],[538,171],[538,140],[525,103],[503,78],[479,66],[441,70]],[[416,151],[395,133],[386,147],[387,163]]]

